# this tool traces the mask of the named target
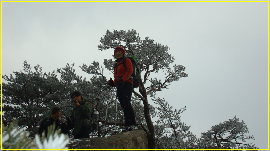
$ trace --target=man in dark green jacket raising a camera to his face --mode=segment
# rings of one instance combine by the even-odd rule
[[[71,123],[69,129],[73,129],[74,139],[89,138],[92,131],[91,114],[93,106],[82,98],[82,94],[78,91],[72,93],[71,98],[75,106],[73,113],[70,116]]]

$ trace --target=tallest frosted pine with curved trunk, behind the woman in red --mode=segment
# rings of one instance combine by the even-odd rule
[[[168,53],[170,48],[154,43],[154,40],[146,37],[141,40],[136,30],[107,30],[103,38],[100,38],[101,44],[98,49],[101,51],[114,49],[117,46],[125,48],[127,56],[135,55],[139,69],[141,70],[141,82],[138,90],[133,93],[144,106],[144,118],[147,125],[147,136],[149,149],[156,149],[155,128],[151,120],[151,110],[148,102],[148,96],[153,92],[162,91],[168,88],[171,82],[178,81],[181,77],[187,77],[184,73],[185,67],[182,65],[173,65],[174,57]],[[93,66],[83,65],[81,69],[89,74],[101,74],[100,66],[97,62],[92,63]],[[105,68],[113,73],[115,61],[112,59],[104,59]],[[159,72],[161,71],[161,72]],[[163,78],[158,79],[155,73],[162,73]],[[160,75],[159,75],[160,76]],[[108,79],[104,78],[104,83]]]

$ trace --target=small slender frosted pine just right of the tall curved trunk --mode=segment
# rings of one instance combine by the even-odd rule
[[[173,110],[164,98],[156,98],[155,94],[152,100],[159,105],[158,120],[155,121],[158,149],[197,149],[198,139],[189,131],[190,126],[181,122],[180,114],[186,110],[186,107]]]

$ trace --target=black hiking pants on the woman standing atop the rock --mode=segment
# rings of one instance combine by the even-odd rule
[[[135,115],[131,106],[133,88],[131,82],[124,82],[124,87],[117,88],[117,98],[120,102],[125,117],[125,126],[137,125]]]

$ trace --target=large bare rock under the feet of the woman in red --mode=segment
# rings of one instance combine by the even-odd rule
[[[144,130],[127,131],[109,137],[95,137],[71,140],[69,149],[85,150],[148,150],[147,135]],[[117,150],[116,150],[117,149]]]

